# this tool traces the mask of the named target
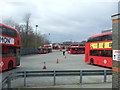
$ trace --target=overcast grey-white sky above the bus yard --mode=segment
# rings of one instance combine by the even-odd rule
[[[0,17],[23,23],[31,13],[31,26],[52,42],[82,41],[112,28],[119,0],[0,0]],[[50,35],[49,35],[50,33]]]

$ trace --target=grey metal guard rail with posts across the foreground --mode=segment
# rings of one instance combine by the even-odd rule
[[[111,75],[112,70],[59,70],[59,71],[19,71],[9,74],[3,81],[3,88],[11,88],[11,81],[17,78],[24,78],[24,86],[26,86],[27,77],[53,77],[53,85],[56,85],[56,77],[58,76],[80,76],[82,83],[83,76],[103,75],[104,82],[107,80],[107,75]]]

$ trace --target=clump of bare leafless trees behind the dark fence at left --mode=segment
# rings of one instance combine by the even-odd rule
[[[33,32],[33,28],[30,26],[30,18],[31,13],[27,13],[23,17],[23,24],[16,23],[14,20],[9,18],[4,19],[3,23],[19,31],[23,48],[37,48],[44,44],[48,44],[49,40],[47,39],[47,36]],[[37,42],[35,42],[36,39]]]

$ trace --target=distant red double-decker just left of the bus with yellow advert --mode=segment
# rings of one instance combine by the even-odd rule
[[[84,54],[85,53],[85,44],[76,43],[71,44],[67,49],[69,54]]]

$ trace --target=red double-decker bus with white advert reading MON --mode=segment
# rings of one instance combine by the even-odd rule
[[[10,70],[20,65],[20,46],[18,31],[0,24],[0,71]]]

